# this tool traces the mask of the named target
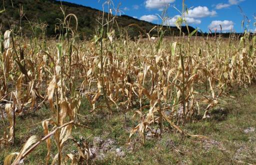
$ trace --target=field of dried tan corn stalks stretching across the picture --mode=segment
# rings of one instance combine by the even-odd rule
[[[164,122],[184,136],[208,138],[189,134],[180,125],[199,113],[205,118],[223,101],[220,96],[255,81],[256,36],[246,31],[243,36],[229,38],[211,33],[192,36],[196,31],[188,36],[180,31],[180,36],[164,37],[165,31],[156,26],[152,30],[159,36],[152,37],[141,29],[141,36],[132,40],[121,28],[116,35],[112,28],[116,22],[109,12],[102,15],[106,20],[99,18],[96,35],[81,40],[75,32],[77,24],[70,23],[77,23],[76,16],[62,11],[63,19],[56,25],[60,31],[57,39],[44,35],[45,24],[38,24],[36,28],[42,32],[30,38],[15,27],[0,37],[0,101],[5,103],[0,146],[15,141],[17,115],[40,110],[42,105],[52,112],[41,122],[44,137],[31,136],[20,151],[6,155],[6,165],[18,164],[43,141],[48,149],[46,164],[88,162],[88,144],[79,144],[71,135],[74,127],[88,128],[79,121],[82,98],[91,104],[91,113],[134,113],[137,125],[131,128],[127,144],[134,136],[145,144],[145,132],[155,125],[161,135]],[[178,21],[177,26],[183,23]],[[67,140],[77,146],[78,155],[63,154]],[[57,153],[50,160],[52,141]]]

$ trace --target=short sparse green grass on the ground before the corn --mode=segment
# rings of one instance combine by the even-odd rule
[[[249,91],[249,92],[248,92]],[[173,129],[165,128],[162,137],[147,139],[145,145],[139,140],[133,149],[126,145],[129,129],[136,125],[131,120],[132,112],[127,113],[127,123],[124,115],[99,110],[90,113],[90,106],[84,99],[80,108],[82,123],[91,129],[76,127],[72,135],[78,139],[80,136],[88,137],[92,145],[93,138],[100,136],[103,140],[113,139],[115,145],[125,151],[124,157],[118,157],[109,152],[103,159],[93,160],[93,164],[237,164],[238,161],[256,163],[256,131],[244,133],[243,130],[256,125],[256,86],[251,86],[248,91],[239,89],[230,93],[236,98],[222,97],[226,101],[209,111],[210,118],[196,120],[181,126],[184,130],[193,134],[202,134],[213,139],[213,144],[202,139],[182,137]],[[15,143],[4,147],[0,152],[0,164],[8,153],[18,151],[26,139],[33,134],[42,136],[40,121],[49,118],[51,111],[42,108],[36,112],[17,117]],[[2,126],[2,122],[0,123]],[[3,130],[0,130],[0,134]],[[132,138],[135,140],[137,134]],[[75,146],[68,142],[65,152],[75,150]],[[240,151],[239,151],[240,150]],[[52,142],[52,154],[57,152]],[[25,164],[43,164],[47,149],[45,143],[41,143],[25,159]]]

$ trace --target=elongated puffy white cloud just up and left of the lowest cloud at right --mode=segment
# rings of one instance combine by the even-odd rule
[[[206,6],[197,6],[192,9],[189,9],[187,12],[188,14],[185,15],[191,18],[202,18],[207,16],[214,16],[217,14],[216,11],[210,11]]]

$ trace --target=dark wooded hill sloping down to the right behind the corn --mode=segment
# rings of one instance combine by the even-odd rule
[[[94,9],[91,7],[64,2],[62,1],[63,8],[65,13],[73,13],[78,19],[77,31],[81,36],[90,37],[95,33],[95,27],[97,27],[98,22],[97,18],[102,16],[102,11]],[[28,23],[28,20],[31,24],[37,24],[45,22],[46,26],[46,35],[55,35],[55,24],[59,22],[57,18],[63,19],[63,14],[61,12],[60,1],[57,0],[8,0],[4,1],[4,4],[0,5],[0,8],[5,8],[5,12],[0,14],[1,22],[1,31],[9,29],[9,24],[18,25],[20,22],[20,12],[19,9],[22,6],[22,11],[25,16],[21,18],[21,27],[26,34],[31,33],[31,26]],[[135,23],[143,30],[148,32],[152,27],[157,24],[153,24],[147,21],[139,20],[128,15],[121,15],[116,17],[116,22],[121,28],[125,28],[131,37],[139,35],[139,28],[129,26],[129,24]],[[75,24],[73,22],[73,24]],[[39,28],[39,27],[38,27]],[[117,29],[117,26],[115,25]],[[168,31],[167,35],[177,35],[179,30],[177,27],[164,27]],[[189,26],[189,31],[193,31],[194,28]],[[117,30],[116,30],[117,31]],[[187,34],[186,27],[182,27],[182,31]],[[153,30],[151,34],[157,34],[156,30]]]

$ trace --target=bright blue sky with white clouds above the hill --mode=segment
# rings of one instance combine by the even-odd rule
[[[105,0],[64,0],[92,8],[102,10],[102,3]],[[133,16],[153,23],[161,23],[161,19],[157,14],[161,15],[161,10],[166,4],[169,4],[168,19],[165,23],[174,25],[180,13],[173,7],[181,9],[182,0],[112,0],[115,7],[121,3],[120,10],[122,14]],[[188,14],[185,14],[187,23],[193,27],[199,27],[202,31],[220,30],[236,32],[243,31],[241,22],[243,14],[250,20],[248,28],[252,32],[256,32],[256,26],[253,23],[254,14],[256,14],[256,0],[185,0]],[[243,14],[240,12],[238,5],[242,8]],[[246,21],[247,22],[247,21]]]

